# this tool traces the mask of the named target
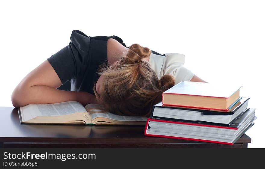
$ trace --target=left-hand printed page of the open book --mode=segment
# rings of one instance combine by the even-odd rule
[[[59,116],[84,111],[84,106],[76,101],[51,103],[51,104],[29,104],[21,107],[23,121],[30,120],[37,116]]]

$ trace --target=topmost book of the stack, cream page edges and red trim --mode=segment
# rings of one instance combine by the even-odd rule
[[[239,101],[242,86],[182,81],[162,94],[163,105],[228,111]]]

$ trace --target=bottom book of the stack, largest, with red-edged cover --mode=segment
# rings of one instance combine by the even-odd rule
[[[254,125],[253,122],[256,118],[255,108],[249,108],[228,125],[148,118],[144,134],[153,137],[233,145],[238,138]]]

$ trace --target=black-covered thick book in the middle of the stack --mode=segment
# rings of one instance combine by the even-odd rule
[[[249,99],[250,98],[242,97],[228,111],[184,108],[179,106],[163,105],[162,102],[160,102],[153,106],[151,116],[167,120],[182,119],[195,122],[204,121],[229,124],[247,109]]]

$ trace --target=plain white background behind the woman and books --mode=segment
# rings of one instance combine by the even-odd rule
[[[258,119],[248,147],[264,147],[263,1],[1,1],[0,106],[34,68],[70,42],[72,30],[112,36],[127,46],[186,55],[207,82],[239,83]]]

